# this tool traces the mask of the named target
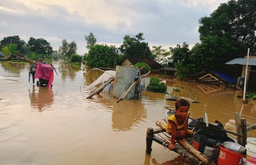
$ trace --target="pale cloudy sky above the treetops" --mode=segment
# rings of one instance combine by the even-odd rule
[[[150,48],[199,42],[198,20],[228,0],[0,0],[0,40],[6,36],[43,38],[53,50],[75,41],[88,50],[84,36],[97,44],[122,45],[123,37],[142,32]]]

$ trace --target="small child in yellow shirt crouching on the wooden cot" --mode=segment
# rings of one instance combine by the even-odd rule
[[[166,124],[166,131],[172,135],[172,139],[169,139],[169,149],[175,148],[175,140],[181,139],[182,142],[187,141],[186,136],[192,137],[193,131],[188,129],[189,120],[189,102],[185,99],[179,99],[175,102],[175,114],[168,118]]]

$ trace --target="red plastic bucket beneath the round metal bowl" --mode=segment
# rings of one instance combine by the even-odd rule
[[[220,148],[221,150],[219,153],[217,165],[239,165],[240,160],[240,165],[244,163],[243,154],[237,154],[222,146],[220,146]]]

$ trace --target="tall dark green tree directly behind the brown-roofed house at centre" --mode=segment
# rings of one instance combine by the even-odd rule
[[[124,53],[125,57],[134,57],[139,59],[154,59],[151,50],[148,46],[148,42],[141,42],[145,40],[143,33],[139,33],[134,37],[130,35],[124,36],[123,44],[120,46],[120,50]]]

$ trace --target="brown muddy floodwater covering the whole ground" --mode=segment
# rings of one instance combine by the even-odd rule
[[[194,165],[156,142],[145,154],[147,129],[167,119],[165,106],[175,107],[166,94],[143,92],[139,100],[119,103],[108,95],[87,99],[84,87],[100,73],[84,78],[82,66],[52,64],[58,76],[47,88],[29,82],[29,64],[0,62],[0,165]],[[194,118],[207,112],[210,123],[225,124],[239,112],[256,123],[256,101],[236,97],[243,91],[162,79],[168,92],[178,88],[176,95],[200,102],[191,103]]]

